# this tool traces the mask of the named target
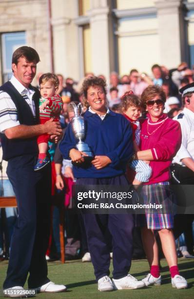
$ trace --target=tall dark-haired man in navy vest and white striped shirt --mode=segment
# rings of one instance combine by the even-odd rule
[[[66,290],[64,285],[47,278],[45,252],[50,232],[51,172],[50,165],[38,173],[34,171],[38,153],[36,137],[47,133],[57,141],[61,128],[52,119],[39,125],[39,90],[31,85],[38,63],[35,49],[19,47],[12,57],[13,76],[0,87],[3,159],[8,161],[7,175],[19,211],[3,284],[8,297],[16,297],[15,289],[23,290],[28,273],[30,289],[49,293]]]

